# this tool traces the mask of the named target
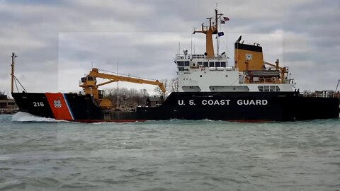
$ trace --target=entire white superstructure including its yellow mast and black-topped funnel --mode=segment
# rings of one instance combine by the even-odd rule
[[[229,18],[222,17],[222,13],[217,13],[215,9],[215,18],[210,17],[208,20],[209,25],[203,23],[200,29],[195,28],[193,31],[193,34],[205,34],[206,52],[188,54],[188,50],[184,50],[183,54],[177,54],[174,59],[179,69],[179,91],[293,91],[294,83],[288,79],[288,67],[280,67],[278,60],[276,64],[264,62],[262,47],[258,43],[240,43],[240,36],[234,44],[235,63],[232,65],[228,64],[225,53],[216,55],[212,35],[216,35],[218,41],[223,32],[218,31],[217,23],[225,23]]]

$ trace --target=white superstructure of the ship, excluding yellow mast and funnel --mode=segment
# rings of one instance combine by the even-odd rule
[[[280,71],[274,67],[256,71],[257,74],[249,78],[249,71],[239,71],[237,67],[229,65],[225,54],[206,57],[204,54],[183,52],[174,59],[179,69],[180,92],[293,91],[292,80],[280,80]]]

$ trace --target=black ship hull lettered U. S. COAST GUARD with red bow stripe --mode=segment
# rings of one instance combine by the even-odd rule
[[[18,108],[40,117],[74,122],[227,120],[266,122],[339,117],[339,98],[303,97],[294,92],[171,93],[159,107],[131,112],[105,110],[89,95],[12,93]]]

